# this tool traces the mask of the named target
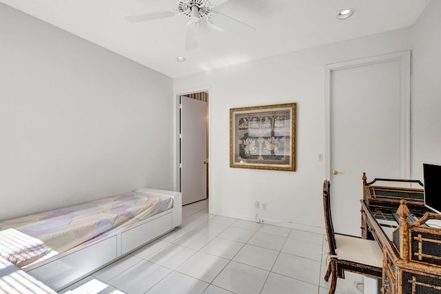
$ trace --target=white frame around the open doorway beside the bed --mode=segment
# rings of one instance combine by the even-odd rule
[[[210,85],[204,85],[201,87],[194,87],[189,89],[183,89],[183,90],[174,90],[173,91],[173,185],[174,189],[178,191],[180,186],[180,180],[179,177],[179,125],[180,125],[180,119],[179,119],[179,96],[185,96],[186,94],[192,94],[197,92],[207,92],[208,93],[208,101],[207,101],[207,109],[208,109],[208,117],[207,117],[207,144],[208,144],[208,162],[210,162],[210,157],[212,154],[212,139],[211,139],[211,122],[210,117],[212,116],[212,103],[210,103],[211,97],[212,97],[212,89]],[[208,163],[208,196],[212,195],[212,172],[211,172],[211,165]],[[208,197],[208,202],[209,200]],[[211,209],[211,205],[209,204],[209,209]]]

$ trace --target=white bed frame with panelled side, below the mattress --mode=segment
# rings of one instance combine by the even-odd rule
[[[182,223],[181,192],[156,189],[136,191],[170,196],[174,198],[173,208],[136,222],[131,227],[115,229],[99,240],[32,264],[23,270],[55,291],[61,291]]]

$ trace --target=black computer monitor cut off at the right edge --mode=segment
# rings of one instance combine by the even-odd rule
[[[441,165],[422,164],[424,173],[424,205],[441,214]]]

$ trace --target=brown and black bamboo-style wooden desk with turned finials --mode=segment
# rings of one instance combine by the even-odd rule
[[[380,187],[373,182],[363,180],[361,229],[362,238],[375,239],[384,253],[382,293],[441,293],[441,228],[425,225],[441,215],[427,212],[422,189]],[[392,216],[395,211],[401,216],[400,225]],[[407,222],[410,213],[420,220]]]

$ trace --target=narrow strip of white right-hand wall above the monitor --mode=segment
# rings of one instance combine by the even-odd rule
[[[441,163],[440,15],[441,1],[431,1],[411,31],[412,174],[418,179],[422,162]]]

